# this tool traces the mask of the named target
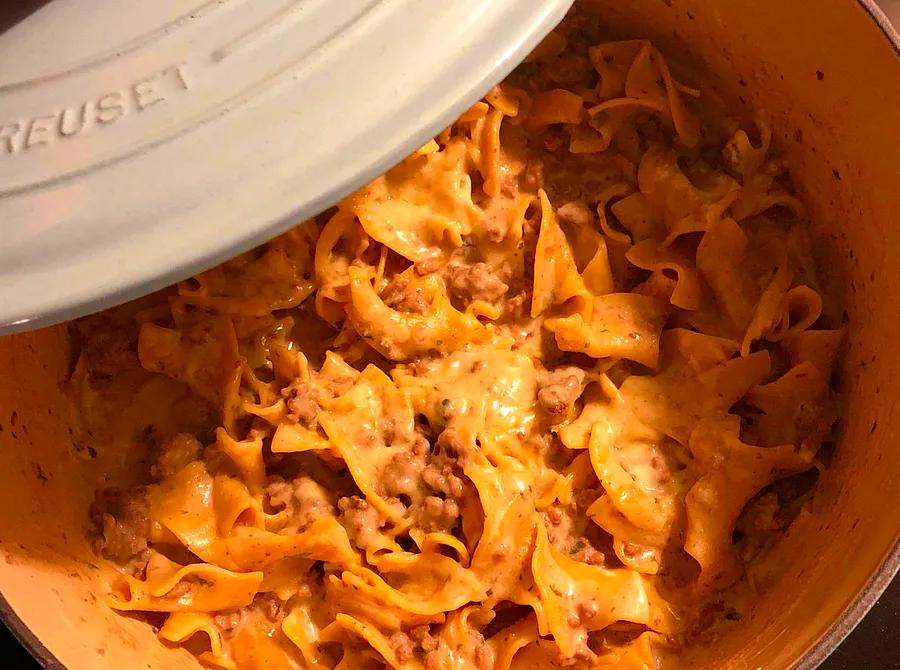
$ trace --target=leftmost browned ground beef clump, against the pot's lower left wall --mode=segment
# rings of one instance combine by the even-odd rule
[[[150,535],[148,508],[143,488],[98,491],[91,505],[91,519],[98,531],[97,553],[122,565],[143,554]]]

